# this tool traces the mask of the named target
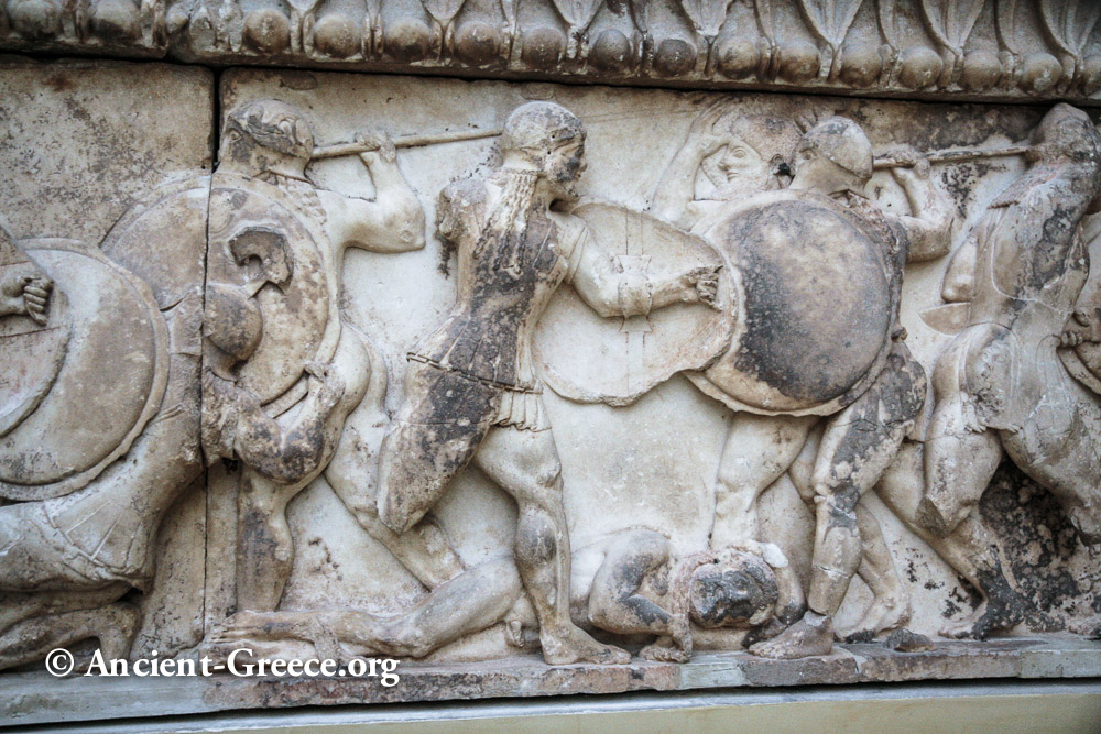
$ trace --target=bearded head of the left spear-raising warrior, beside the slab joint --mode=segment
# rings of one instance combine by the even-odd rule
[[[314,132],[296,108],[274,99],[239,107],[226,118],[220,160],[244,173],[301,176],[314,153]]]

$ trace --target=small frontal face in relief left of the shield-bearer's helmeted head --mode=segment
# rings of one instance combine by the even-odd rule
[[[727,142],[712,164],[716,171],[708,165],[705,174],[720,191],[780,188],[780,176],[791,175],[800,138],[793,122],[767,114],[731,114],[718,127]]]

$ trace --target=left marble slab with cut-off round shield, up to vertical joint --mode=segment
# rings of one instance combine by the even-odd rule
[[[204,69],[0,67],[6,668],[201,639],[212,113]]]

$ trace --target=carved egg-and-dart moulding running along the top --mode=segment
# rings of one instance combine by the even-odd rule
[[[6,0],[0,47],[210,64],[1086,102],[1092,0]]]

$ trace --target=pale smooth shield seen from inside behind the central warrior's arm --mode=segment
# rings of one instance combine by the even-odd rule
[[[702,239],[619,205],[589,201],[573,213],[615,267],[652,282],[689,270],[719,271],[718,308],[678,303],[648,316],[601,318],[570,288],[558,288],[535,331],[534,354],[547,384],[582,403],[630,405],[684,370],[706,366],[730,341],[737,284]]]

